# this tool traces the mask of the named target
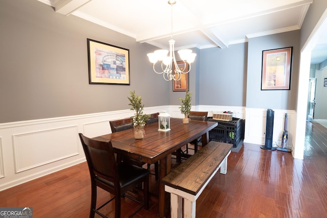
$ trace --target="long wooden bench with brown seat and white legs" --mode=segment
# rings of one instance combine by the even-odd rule
[[[171,218],[195,217],[196,200],[220,168],[227,173],[227,157],[232,144],[210,141],[200,151],[177,166],[161,182],[170,192]]]

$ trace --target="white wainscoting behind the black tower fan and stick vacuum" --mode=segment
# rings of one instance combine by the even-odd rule
[[[265,144],[266,116],[267,109],[246,108],[244,142],[253,144]],[[285,113],[287,113],[288,145],[287,148],[294,151],[294,133],[296,114],[294,110],[275,110],[273,128],[273,146],[281,145],[281,138],[284,132]]]

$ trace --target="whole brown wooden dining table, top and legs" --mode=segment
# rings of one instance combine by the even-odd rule
[[[97,140],[110,140],[114,152],[131,159],[154,164],[159,161],[159,180],[171,171],[172,153],[186,143],[201,137],[202,146],[209,141],[209,131],[217,126],[217,122],[190,120],[183,124],[181,118],[170,118],[170,130],[158,131],[158,122],[144,126],[143,139],[135,139],[133,129],[94,137]],[[158,216],[165,217],[169,213],[170,199],[165,193],[164,184],[159,183]]]

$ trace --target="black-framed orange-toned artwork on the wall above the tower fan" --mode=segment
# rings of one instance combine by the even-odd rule
[[[261,90],[290,90],[292,49],[262,52]]]

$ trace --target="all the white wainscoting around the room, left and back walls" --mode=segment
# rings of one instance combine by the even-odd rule
[[[182,118],[179,105],[145,108],[147,114],[166,110],[171,117]],[[266,109],[199,105],[196,111],[232,111],[233,117],[245,118],[245,142],[263,144]],[[289,117],[289,141],[293,142],[295,112],[274,110],[274,141],[284,129],[284,114]],[[109,120],[133,115],[131,110],[0,124],[0,191],[60,171],[85,161],[78,137],[110,133]],[[279,142],[280,143],[280,142]]]

